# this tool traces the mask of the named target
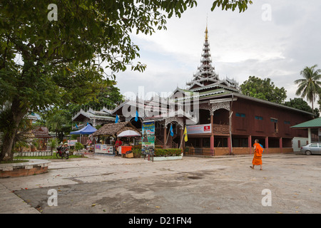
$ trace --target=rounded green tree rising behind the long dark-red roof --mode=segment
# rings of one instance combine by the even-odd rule
[[[244,95],[279,104],[282,104],[287,98],[287,91],[285,88],[276,87],[270,78],[261,79],[250,76],[247,81],[240,85],[240,89]]]

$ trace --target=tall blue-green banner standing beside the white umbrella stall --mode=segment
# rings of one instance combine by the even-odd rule
[[[155,122],[143,122],[142,125],[141,152],[144,155],[154,155],[155,151]]]

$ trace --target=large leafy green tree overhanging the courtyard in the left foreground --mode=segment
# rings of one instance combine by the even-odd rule
[[[1,160],[11,160],[14,136],[30,110],[84,103],[114,73],[143,71],[131,32],[152,34],[195,0],[2,0],[0,2]],[[213,9],[250,1],[214,1]],[[98,59],[98,62],[97,62]],[[108,72],[108,71],[107,71]],[[105,73],[106,74],[106,73]]]

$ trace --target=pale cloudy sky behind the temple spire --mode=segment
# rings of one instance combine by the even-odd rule
[[[118,73],[121,93],[138,93],[139,86],[145,95],[185,88],[200,65],[206,21],[213,66],[221,79],[242,84],[248,76],[271,78],[290,100],[297,97],[294,81],[301,78],[300,71],[315,64],[321,68],[320,0],[253,0],[241,14],[210,11],[212,3],[198,1],[180,19],[168,19],[167,30],[133,35],[141,48],[136,61],[147,68]]]

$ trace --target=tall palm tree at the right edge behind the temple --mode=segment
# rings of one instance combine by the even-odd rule
[[[301,95],[302,98],[307,98],[307,101],[315,103],[317,95],[321,92],[321,69],[317,68],[317,64],[312,67],[306,66],[301,72],[300,75],[303,76],[302,79],[297,79],[295,84],[299,84],[297,92],[295,95]]]

